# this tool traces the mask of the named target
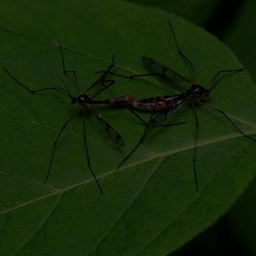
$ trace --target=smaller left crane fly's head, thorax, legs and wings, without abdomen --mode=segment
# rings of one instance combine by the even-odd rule
[[[15,82],[17,82],[18,84],[20,84],[23,88],[25,88],[27,91],[29,91],[30,93],[36,93],[36,92],[41,92],[41,91],[45,91],[45,90],[55,90],[63,95],[66,95],[69,99],[70,99],[70,105],[76,105],[76,103],[78,103],[79,108],[76,111],[76,113],[62,126],[57,139],[55,140],[54,144],[53,144],[53,148],[52,148],[52,155],[51,155],[51,161],[50,161],[50,166],[45,178],[45,182],[47,181],[47,178],[49,177],[50,174],[50,170],[51,170],[51,166],[52,166],[52,161],[53,161],[53,155],[54,155],[54,150],[55,150],[55,145],[57,144],[57,141],[59,140],[60,134],[62,133],[62,131],[65,129],[65,127],[67,126],[67,124],[81,111],[83,110],[83,133],[84,133],[84,142],[85,142],[85,148],[86,148],[86,157],[87,157],[87,162],[88,162],[88,166],[92,172],[92,175],[95,179],[95,181],[97,182],[97,185],[100,189],[101,194],[102,193],[102,189],[100,187],[100,184],[97,180],[96,175],[94,174],[92,167],[91,167],[91,163],[90,163],[90,158],[89,158],[89,150],[87,147],[87,141],[86,141],[86,134],[85,134],[85,110],[89,109],[91,111],[91,113],[97,118],[97,120],[99,121],[99,123],[101,124],[101,126],[103,127],[103,129],[107,132],[107,134],[109,135],[109,137],[115,141],[115,143],[117,143],[119,146],[124,146],[124,141],[122,139],[122,137],[118,134],[118,132],[111,127],[102,117],[101,115],[99,115],[98,113],[95,112],[95,110],[91,107],[91,105],[93,104],[99,104],[101,103],[101,101],[97,101],[97,100],[93,100],[94,97],[96,97],[99,93],[101,93],[102,91],[106,90],[109,86],[113,85],[115,83],[114,80],[106,80],[106,76],[109,72],[109,70],[115,65],[114,62],[114,56],[113,55],[113,59],[108,67],[108,69],[106,70],[105,73],[103,73],[85,92],[83,92],[81,94],[80,90],[79,90],[79,86],[78,86],[78,82],[77,82],[77,76],[76,76],[76,72],[74,70],[66,70],[65,69],[65,63],[64,63],[64,58],[63,58],[63,53],[62,53],[62,47],[60,44],[60,51],[61,51],[61,58],[62,58],[62,65],[63,65],[63,70],[64,73],[73,73],[74,78],[75,78],[75,82],[77,85],[77,90],[79,93],[78,97],[73,97],[68,89],[68,86],[64,83],[64,81],[61,79],[63,85],[65,86],[65,89],[63,89],[60,86],[55,86],[55,87],[47,87],[44,89],[39,89],[39,90],[30,90],[27,86],[23,85],[21,82],[19,82],[5,67],[3,67],[3,69],[6,71],[6,73],[11,76]],[[92,88],[96,87],[97,85],[104,84],[105,82],[108,82],[108,84],[106,86],[104,86],[97,94],[95,94],[92,98],[89,97],[89,95],[87,94],[89,92],[89,90],[91,90]]]

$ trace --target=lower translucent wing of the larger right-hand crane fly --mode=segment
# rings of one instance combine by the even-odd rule
[[[174,103],[174,105],[168,110],[165,111],[164,113],[159,114],[155,118],[153,118],[146,126],[146,132],[149,132],[158,126],[162,125],[167,118],[169,118],[175,111],[177,111],[180,107],[185,105],[188,102],[188,98],[184,100],[177,101]]]

